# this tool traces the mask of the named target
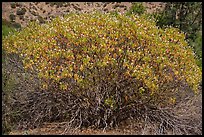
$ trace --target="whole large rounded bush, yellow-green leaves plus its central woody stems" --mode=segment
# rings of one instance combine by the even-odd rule
[[[37,73],[42,90],[70,94],[70,122],[107,127],[175,104],[179,86],[198,92],[201,71],[184,38],[145,15],[68,14],[32,22],[4,38],[3,48]]]

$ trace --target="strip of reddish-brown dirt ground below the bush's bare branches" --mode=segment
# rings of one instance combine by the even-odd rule
[[[144,131],[142,123],[128,120],[129,124],[122,123],[120,127],[115,129],[81,129],[70,130],[66,129],[63,123],[45,123],[42,128],[30,130],[14,130],[9,135],[141,135],[153,134],[150,130]]]

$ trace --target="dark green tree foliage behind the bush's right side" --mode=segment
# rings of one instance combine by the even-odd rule
[[[186,34],[186,40],[194,48],[198,62],[202,60],[202,39],[197,38],[202,30],[202,2],[167,2],[165,9],[154,14],[157,25],[173,26]],[[201,64],[200,64],[201,66]]]

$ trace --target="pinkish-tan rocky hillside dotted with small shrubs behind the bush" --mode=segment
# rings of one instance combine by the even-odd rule
[[[125,13],[131,7],[131,2],[3,2],[2,18],[13,21],[25,27],[29,21],[39,20],[44,22],[52,17],[67,14],[69,12],[91,12],[94,10]],[[144,2],[147,12],[163,9],[162,2]]]

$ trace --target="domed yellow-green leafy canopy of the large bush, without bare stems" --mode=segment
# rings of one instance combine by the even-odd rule
[[[3,48],[19,54],[43,88],[68,90],[74,84],[87,89],[123,78],[140,81],[151,95],[175,80],[196,92],[201,70],[184,38],[178,29],[160,29],[145,15],[70,13],[43,25],[31,22],[4,38]]]

